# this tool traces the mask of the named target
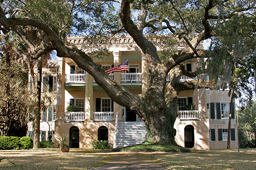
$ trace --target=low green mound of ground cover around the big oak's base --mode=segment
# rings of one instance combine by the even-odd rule
[[[113,149],[115,152],[125,151],[125,152],[190,152],[188,148],[178,147],[174,145],[163,145],[158,143],[145,142],[142,144],[137,144],[128,147]]]

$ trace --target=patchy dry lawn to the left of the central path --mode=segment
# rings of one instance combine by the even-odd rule
[[[0,150],[0,170],[88,170],[105,158],[105,153],[88,150],[70,150],[61,153],[60,149]]]

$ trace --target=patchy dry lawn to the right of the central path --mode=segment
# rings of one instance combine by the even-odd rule
[[[192,150],[191,153],[155,154],[172,170],[256,170],[256,150]]]

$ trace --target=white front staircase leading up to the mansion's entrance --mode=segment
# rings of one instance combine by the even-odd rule
[[[118,122],[116,130],[116,147],[141,144],[146,138],[146,127],[143,121]]]

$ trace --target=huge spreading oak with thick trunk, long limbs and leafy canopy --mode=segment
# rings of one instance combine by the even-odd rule
[[[228,71],[222,76],[231,75],[233,69],[227,68],[235,62],[255,76],[255,9],[254,0],[8,0],[0,7],[0,29],[3,33],[15,31],[24,35],[36,58],[55,49],[59,57],[73,59],[113,101],[145,121],[148,140],[174,143],[179,92],[195,86],[214,88],[211,81],[179,82],[182,74],[195,77],[211,68],[206,66],[209,61],[218,58],[221,63],[215,68],[221,66],[222,73]],[[44,32],[40,43],[31,43],[23,34],[27,27]],[[70,33],[98,37],[131,35],[150,63],[149,89],[135,95],[118,85],[93,62],[90,54],[65,40]],[[186,42],[186,47],[167,48],[167,52],[159,54],[149,35],[163,34],[173,36],[169,47],[175,47],[175,40]],[[208,39],[209,51],[200,50],[201,43]],[[188,72],[182,62],[193,58],[198,59],[198,70]],[[171,70],[173,78],[166,86]],[[215,75],[220,76],[221,71]],[[218,80],[217,76],[213,80]]]

